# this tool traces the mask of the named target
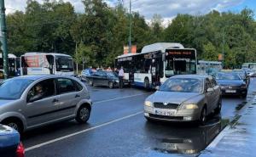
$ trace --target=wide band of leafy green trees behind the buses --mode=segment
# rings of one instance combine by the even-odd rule
[[[82,2],[84,14],[61,0],[27,0],[24,13],[7,16],[9,53],[67,53],[79,64],[84,59],[88,66],[113,66],[128,44],[130,14],[121,3],[110,8],[103,0]],[[132,13],[131,21],[131,42],[138,52],[154,42],[180,42],[195,48],[199,59],[217,60],[224,49],[224,65],[229,68],[256,62],[256,22],[248,8],[239,14],[177,14],[166,27],[158,14],[148,24],[142,15]]]

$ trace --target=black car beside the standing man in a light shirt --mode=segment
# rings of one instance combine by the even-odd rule
[[[87,76],[89,85],[92,86],[108,86],[114,88],[119,86],[119,76],[115,72],[99,70],[91,76]]]

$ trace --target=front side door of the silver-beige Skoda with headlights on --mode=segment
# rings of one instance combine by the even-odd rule
[[[207,92],[207,89],[212,88],[211,81],[207,78],[205,82],[206,87],[206,98],[207,98],[207,112],[211,112],[214,109],[214,91]]]

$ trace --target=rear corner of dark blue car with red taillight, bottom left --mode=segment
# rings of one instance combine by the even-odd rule
[[[0,156],[24,157],[25,149],[20,143],[20,134],[9,126],[0,124]]]

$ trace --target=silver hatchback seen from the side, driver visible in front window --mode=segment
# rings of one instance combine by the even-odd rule
[[[57,121],[90,118],[87,88],[71,76],[20,76],[0,83],[0,123],[24,132]]]

